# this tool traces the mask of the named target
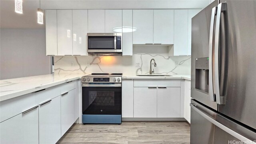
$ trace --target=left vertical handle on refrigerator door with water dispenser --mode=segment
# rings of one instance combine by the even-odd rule
[[[216,10],[217,7],[215,6],[212,8],[212,16],[211,16],[211,23],[210,23],[210,36],[209,36],[209,95],[210,100],[212,102],[216,102],[216,98],[214,95],[214,76],[213,76],[213,51],[214,51],[214,21],[216,17]]]

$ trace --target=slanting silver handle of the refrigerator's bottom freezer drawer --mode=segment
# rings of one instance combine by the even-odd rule
[[[201,116],[203,116],[204,118],[206,118],[206,120],[210,121],[212,124],[214,124],[215,126],[218,126],[219,128],[221,128],[222,130],[224,130],[225,132],[227,132],[228,134],[238,138],[239,140],[243,141],[243,142],[248,142],[249,144],[255,144],[255,142],[253,142],[252,140],[242,136],[241,134],[238,134],[237,132],[231,130],[230,128],[224,126],[223,124],[217,122],[216,120],[212,119],[210,116],[208,116],[207,114],[205,114],[205,112],[203,112],[202,110],[200,110],[199,108],[197,108],[196,104],[190,104],[190,107],[195,110],[198,114],[200,114]]]

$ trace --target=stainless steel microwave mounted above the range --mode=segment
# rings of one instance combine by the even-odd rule
[[[122,33],[87,33],[88,54],[122,55]]]

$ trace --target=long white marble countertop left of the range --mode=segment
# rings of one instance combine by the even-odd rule
[[[77,80],[87,74],[46,74],[0,80],[0,102],[37,90]]]

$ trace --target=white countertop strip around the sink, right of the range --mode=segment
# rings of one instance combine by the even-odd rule
[[[177,74],[175,76],[136,76],[136,74],[123,74],[122,79],[185,79],[191,80],[190,75]]]

